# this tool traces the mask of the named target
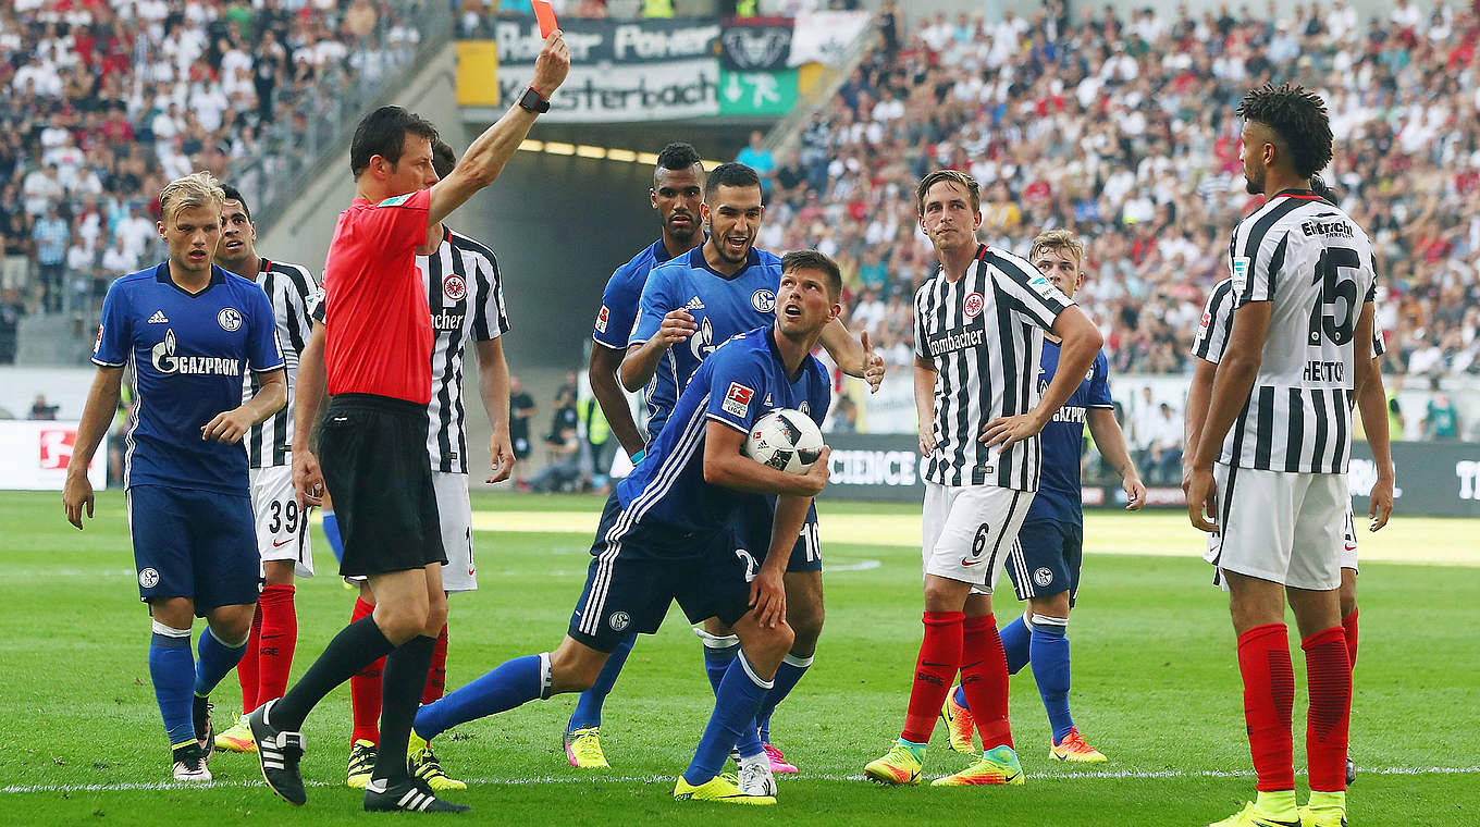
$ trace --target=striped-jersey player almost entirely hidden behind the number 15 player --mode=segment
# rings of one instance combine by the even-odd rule
[[[1326,198],[1335,206],[1335,198],[1319,178],[1311,179],[1311,191]],[[1208,399],[1212,395],[1212,380],[1222,360],[1224,348],[1228,345],[1228,331],[1233,328],[1233,280],[1225,278],[1214,286],[1208,296],[1208,306],[1203,311],[1197,336],[1193,339],[1191,355],[1197,358],[1193,368],[1193,380],[1187,389],[1187,429],[1184,444],[1185,457],[1191,459],[1197,447],[1197,436],[1203,422],[1208,419]],[[1378,371],[1378,360],[1387,352],[1381,331],[1373,324],[1372,328],[1372,380],[1357,391],[1357,413],[1362,416],[1362,429],[1372,448],[1372,459],[1378,466],[1378,478],[1369,493],[1368,509],[1369,531],[1378,531],[1387,525],[1388,515],[1393,513],[1393,454],[1388,445],[1387,398],[1382,391],[1382,374]],[[1188,462],[1183,463],[1183,485],[1191,475]],[[1351,500],[1347,499],[1345,533],[1341,544],[1341,630],[1347,644],[1347,657],[1351,666],[1357,664],[1357,531],[1356,519],[1351,513]],[[1218,559],[1218,536],[1208,536],[1208,562]],[[1221,578],[1215,577],[1215,581]],[[1351,756],[1347,756],[1347,784],[1356,780],[1356,768]]]

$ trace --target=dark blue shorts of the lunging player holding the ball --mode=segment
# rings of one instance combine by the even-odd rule
[[[728,530],[702,536],[632,522],[613,493],[601,512],[570,636],[610,652],[633,632],[657,632],[673,601],[693,623],[718,617],[734,624],[750,611],[755,571],[730,540]]]

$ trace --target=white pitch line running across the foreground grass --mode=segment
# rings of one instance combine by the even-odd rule
[[[1359,775],[1471,775],[1480,774],[1480,766],[1385,766],[1381,769],[1357,768]],[[1304,772],[1296,772],[1304,775]],[[1159,780],[1159,778],[1252,778],[1248,769],[1116,769],[1097,772],[1064,772],[1064,774],[1029,774],[1037,780]],[[935,778],[934,775],[931,778]],[[783,787],[796,781],[863,781],[863,775],[804,775],[798,780],[784,780]],[[522,787],[534,784],[667,784],[672,775],[542,775],[534,778],[465,778],[468,784],[485,787]],[[305,787],[340,787],[342,781],[303,781]],[[127,793],[155,790],[198,790],[198,789],[249,789],[265,787],[256,778],[247,781],[213,781],[210,784],[184,784],[179,781],[124,781],[120,784],[12,784],[0,787],[3,794],[25,793]]]

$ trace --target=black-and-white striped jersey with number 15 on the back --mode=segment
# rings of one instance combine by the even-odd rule
[[[1228,272],[1234,311],[1251,302],[1271,308],[1259,373],[1218,462],[1345,473],[1354,404],[1351,339],[1363,303],[1376,291],[1368,234],[1341,207],[1285,191],[1234,228]]]

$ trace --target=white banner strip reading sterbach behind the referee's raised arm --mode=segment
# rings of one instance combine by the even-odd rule
[[[534,77],[533,65],[500,65],[499,93],[514,104]],[[719,114],[719,61],[667,61],[571,67],[540,120],[628,123]],[[593,141],[599,144],[599,141]]]

